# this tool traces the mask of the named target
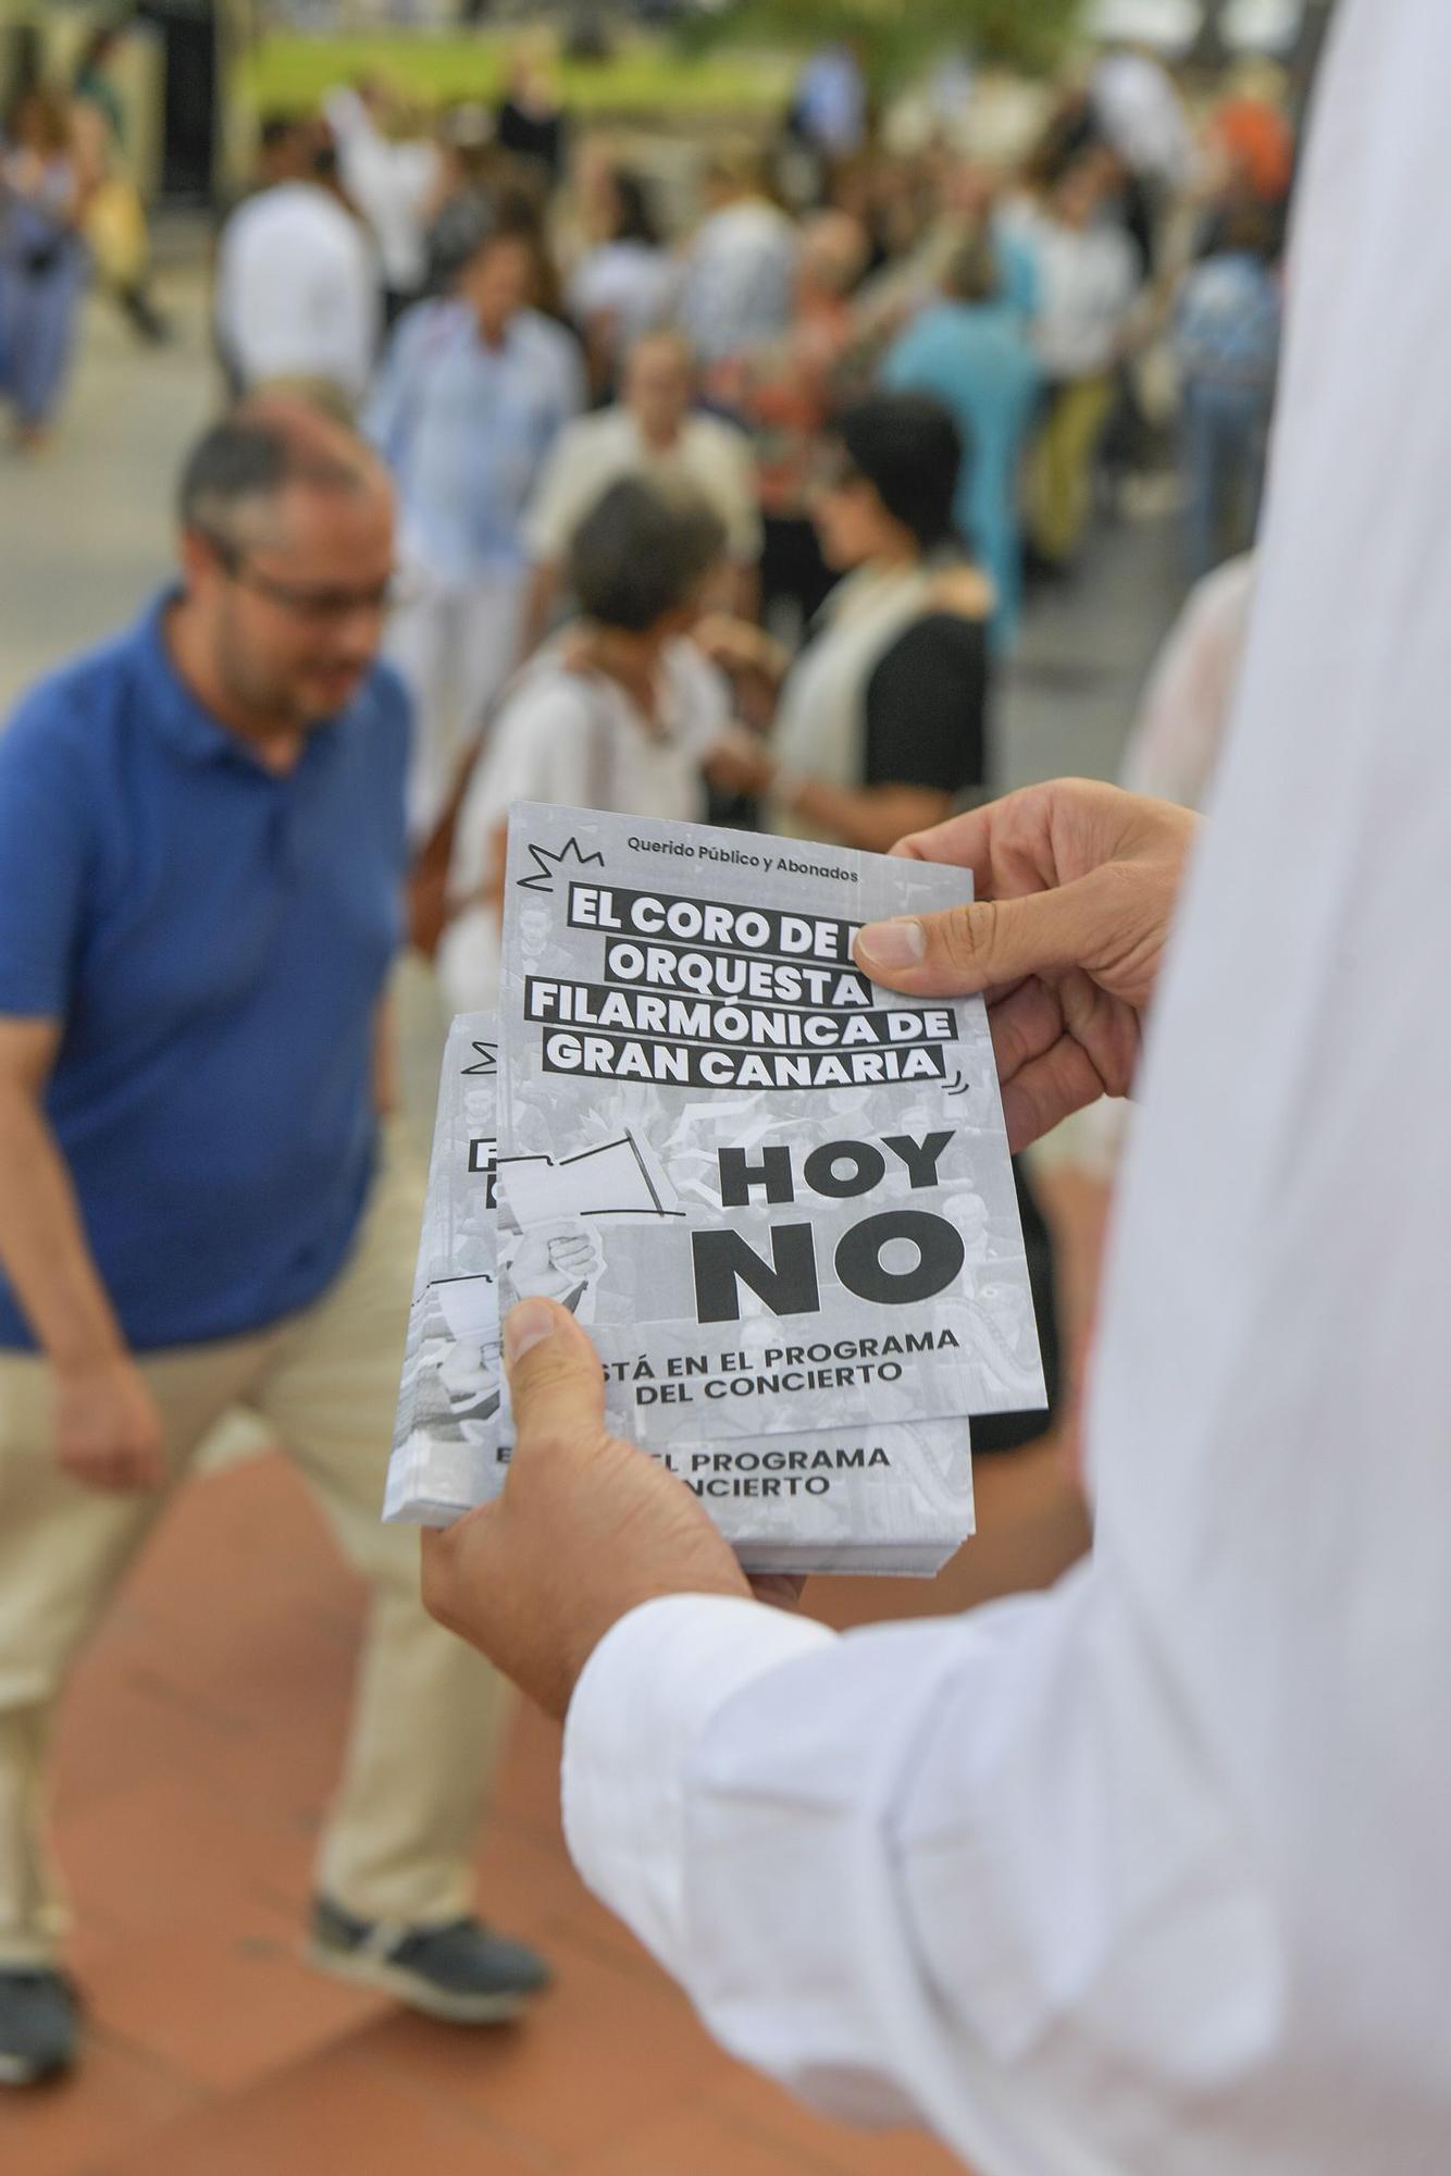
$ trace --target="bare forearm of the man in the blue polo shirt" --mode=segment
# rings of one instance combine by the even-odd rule
[[[80,1223],[76,1190],[35,1097],[0,1081],[0,1266],[61,1369],[126,1351]]]

